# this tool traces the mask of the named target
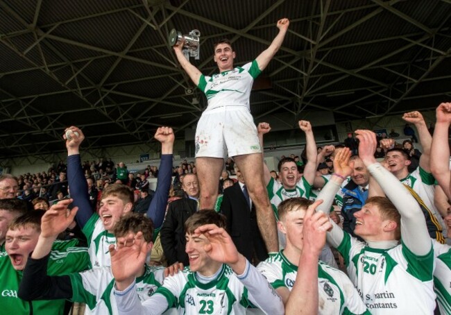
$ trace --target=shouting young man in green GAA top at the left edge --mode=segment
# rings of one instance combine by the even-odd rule
[[[67,212],[71,200],[61,201],[50,210],[60,210],[67,214],[67,220],[72,221],[74,214]],[[0,256],[0,305],[2,314],[63,314],[66,301],[39,300],[26,301],[18,296],[19,283],[28,262],[28,256],[35,250],[40,239],[41,224],[45,224],[43,210],[26,212],[18,216],[9,225],[6,232],[6,252]],[[42,223],[41,223],[42,221]],[[87,248],[80,248],[78,240],[51,241],[48,244],[49,264],[46,273],[63,275],[86,270],[89,266]]]

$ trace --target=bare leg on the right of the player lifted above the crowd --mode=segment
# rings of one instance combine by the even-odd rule
[[[270,253],[279,251],[275,215],[269,203],[268,191],[263,179],[263,161],[260,153],[237,155],[233,157],[239,171],[244,176],[250,199],[255,203],[257,223],[266,249]]]

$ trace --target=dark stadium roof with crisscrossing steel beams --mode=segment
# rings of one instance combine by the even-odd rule
[[[0,0],[0,157],[62,151],[62,130],[88,147],[182,137],[206,100],[178,66],[172,28],[233,42],[253,60],[290,19],[282,48],[251,95],[256,119],[333,112],[336,121],[432,109],[451,94],[450,0]]]

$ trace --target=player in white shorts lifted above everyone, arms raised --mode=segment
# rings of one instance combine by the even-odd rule
[[[278,35],[260,55],[242,67],[234,67],[235,51],[228,40],[214,44],[214,62],[219,74],[204,76],[182,52],[183,43],[174,46],[176,56],[188,76],[207,96],[208,106],[196,129],[196,168],[201,185],[201,208],[213,209],[223,158],[233,157],[257,209],[259,230],[269,252],[278,251],[275,216],[264,186],[262,148],[250,114],[249,96],[254,78],[266,68],[280,49],[289,26],[288,19],[277,22]]]

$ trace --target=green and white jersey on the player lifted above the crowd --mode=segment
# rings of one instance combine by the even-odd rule
[[[255,78],[261,73],[257,61],[213,76],[201,75],[198,88],[207,96],[207,110],[226,105],[250,108],[249,97]]]

